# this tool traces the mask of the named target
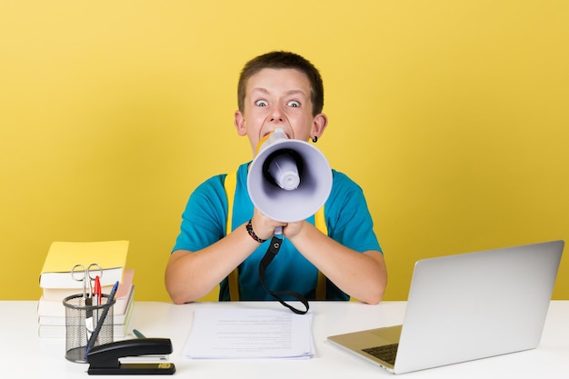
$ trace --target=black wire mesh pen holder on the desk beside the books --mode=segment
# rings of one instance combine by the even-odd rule
[[[65,297],[65,358],[67,360],[80,364],[87,363],[85,348],[89,336],[97,328],[97,323],[105,310],[105,320],[93,346],[113,342],[113,305],[115,299],[109,301],[108,294],[102,296],[101,304],[98,305],[86,305],[83,294],[72,294]]]

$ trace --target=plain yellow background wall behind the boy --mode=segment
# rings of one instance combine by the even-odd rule
[[[0,0],[0,299],[39,298],[53,241],[125,239],[137,299],[168,301],[188,195],[251,157],[237,75],[275,49],[324,76],[317,146],[364,188],[385,299],[420,258],[569,240],[568,21],[564,0]]]

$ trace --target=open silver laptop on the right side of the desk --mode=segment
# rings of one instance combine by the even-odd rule
[[[402,325],[328,341],[394,374],[534,349],[563,249],[551,241],[420,260]]]

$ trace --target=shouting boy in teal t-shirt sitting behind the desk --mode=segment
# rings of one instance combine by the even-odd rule
[[[322,113],[322,78],[300,55],[271,52],[255,57],[240,75],[237,95],[235,128],[238,135],[249,138],[254,156],[259,141],[276,127],[290,139],[314,143],[324,134],[328,120]],[[353,296],[364,303],[379,303],[387,272],[361,188],[333,170],[332,191],[324,204],[326,235],[314,226],[314,216],[280,223],[261,214],[247,193],[247,167],[237,170],[231,233],[225,235],[225,175],[208,179],[190,196],[165,271],[173,302],[193,302],[220,283],[220,300],[229,300],[227,276],[236,267],[241,300],[273,300],[257,270],[270,244],[264,241],[282,226],[281,250],[266,271],[268,288],[314,299],[320,271],[328,280],[327,300]]]

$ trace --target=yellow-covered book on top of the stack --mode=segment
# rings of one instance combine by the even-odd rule
[[[42,288],[83,289],[83,282],[74,280],[71,275],[75,264],[85,268],[89,264],[99,264],[103,269],[99,275],[101,285],[122,282],[128,244],[128,241],[54,242],[45,256],[39,285]]]

